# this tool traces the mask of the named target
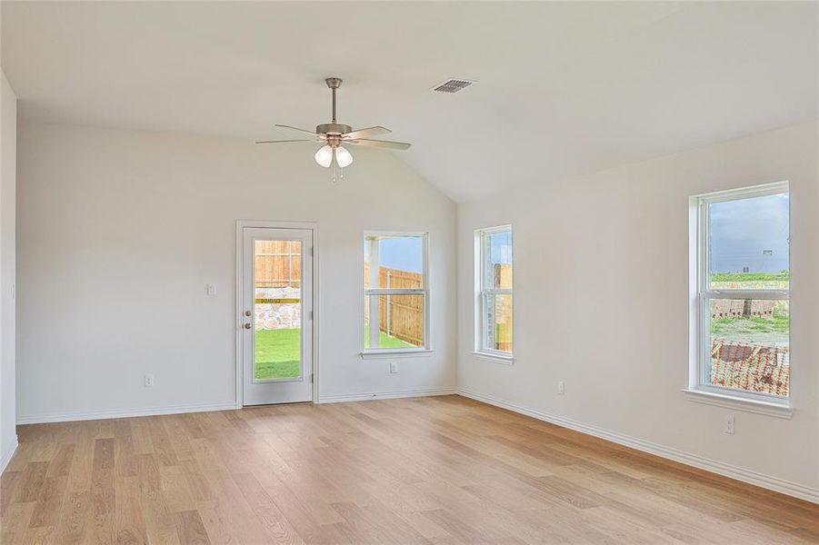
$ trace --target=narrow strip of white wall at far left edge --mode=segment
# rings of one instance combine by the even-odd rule
[[[15,433],[15,187],[17,99],[0,72],[0,471]]]

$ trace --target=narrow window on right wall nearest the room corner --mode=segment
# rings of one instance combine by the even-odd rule
[[[512,357],[512,226],[475,232],[476,352]]]

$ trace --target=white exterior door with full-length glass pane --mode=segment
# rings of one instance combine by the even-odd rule
[[[313,399],[313,231],[242,228],[244,405]]]

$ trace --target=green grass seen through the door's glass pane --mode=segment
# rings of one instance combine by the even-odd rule
[[[255,378],[295,379],[301,373],[301,329],[256,330]]]

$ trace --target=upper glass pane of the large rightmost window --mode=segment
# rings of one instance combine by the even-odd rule
[[[781,193],[710,205],[712,289],[788,289],[789,202]]]

